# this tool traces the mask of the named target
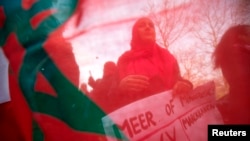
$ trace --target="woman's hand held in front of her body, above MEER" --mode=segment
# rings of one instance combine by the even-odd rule
[[[149,78],[143,75],[128,75],[119,84],[121,90],[129,92],[140,92],[148,86]]]

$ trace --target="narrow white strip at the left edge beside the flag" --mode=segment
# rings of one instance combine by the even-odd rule
[[[8,81],[8,61],[0,48],[0,104],[10,101]]]

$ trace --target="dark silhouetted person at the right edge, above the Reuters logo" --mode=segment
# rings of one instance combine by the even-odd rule
[[[214,51],[216,68],[229,84],[229,94],[219,104],[226,123],[250,124],[250,25],[230,27]]]

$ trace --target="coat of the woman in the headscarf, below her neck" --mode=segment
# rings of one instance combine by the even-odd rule
[[[177,80],[182,79],[177,60],[168,50],[158,45],[150,50],[132,49],[122,54],[118,59],[118,72],[120,81],[127,75],[144,75],[149,78],[150,83],[149,88],[140,94],[118,90],[115,99],[119,101],[117,102],[119,106],[170,90]]]

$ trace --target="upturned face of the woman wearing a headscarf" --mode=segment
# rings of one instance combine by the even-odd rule
[[[155,42],[155,28],[150,19],[142,18],[136,24],[136,31],[140,41],[145,43]]]

